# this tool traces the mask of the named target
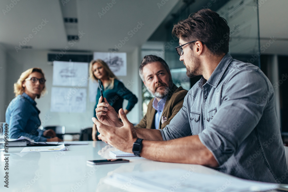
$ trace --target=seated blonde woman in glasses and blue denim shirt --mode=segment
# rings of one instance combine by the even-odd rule
[[[52,130],[40,130],[39,109],[35,98],[46,92],[44,73],[40,68],[24,71],[14,83],[15,98],[6,109],[6,122],[9,124],[9,138],[25,136],[34,141],[62,141]],[[50,138],[46,138],[50,137]]]

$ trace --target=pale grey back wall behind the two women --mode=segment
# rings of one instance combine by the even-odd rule
[[[51,88],[52,88],[52,73],[53,73],[53,66],[47,62],[47,54],[49,52],[46,50],[21,50],[18,53],[15,50],[7,50],[6,54],[6,61],[5,61],[5,51],[0,50],[0,63],[1,67],[5,69],[5,63],[7,66],[7,69],[0,70],[1,74],[1,82],[2,80],[5,80],[5,76],[2,77],[2,74],[5,71],[6,77],[9,77],[9,81],[6,82],[6,88],[5,93],[1,92],[1,111],[0,111],[0,117],[1,121],[5,120],[5,117],[3,118],[3,111],[6,110],[4,107],[5,105],[8,105],[10,101],[15,97],[13,91],[13,84],[17,81],[17,79],[20,77],[20,74],[32,67],[40,67],[43,69],[45,73],[46,81],[46,88],[47,93],[45,96],[35,99],[37,102],[37,107],[41,111],[39,117],[41,120],[42,126],[49,126],[49,125],[60,125],[60,126],[66,126],[66,132],[79,132],[81,128],[86,127],[92,127],[92,120],[93,117],[93,111],[94,111],[94,105],[95,102],[89,101],[89,94],[88,94],[88,87],[87,89],[87,106],[86,106],[86,112],[85,113],[56,113],[56,112],[50,112],[50,103],[51,103]],[[3,57],[2,57],[3,55]],[[2,66],[2,63],[4,65]],[[127,76],[118,76],[119,79],[123,80],[123,83],[125,86],[129,85],[128,81],[133,82],[131,87],[129,88],[130,91],[132,91],[139,99],[138,103],[135,105],[135,107],[132,109],[132,111],[127,115],[128,119],[132,123],[138,123],[141,118],[140,110],[141,108],[141,80],[138,75],[138,67],[139,67],[139,48],[136,48],[132,53],[127,53]],[[4,90],[4,87],[2,89],[3,83],[1,83],[1,90]],[[2,99],[3,96],[6,95],[5,99]],[[96,99],[96,98],[95,98]],[[5,102],[3,102],[5,100]],[[124,109],[127,105],[127,101],[124,102]],[[5,110],[3,110],[5,109]]]

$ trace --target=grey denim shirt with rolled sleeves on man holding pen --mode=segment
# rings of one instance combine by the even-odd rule
[[[182,109],[160,132],[163,140],[198,135],[221,172],[288,183],[272,84],[257,66],[229,54],[208,81],[202,77],[189,90]]]

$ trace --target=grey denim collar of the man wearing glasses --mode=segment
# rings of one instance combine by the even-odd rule
[[[228,65],[231,63],[232,60],[233,58],[231,57],[231,55],[227,53],[219,62],[207,82],[203,76],[201,77],[199,81],[199,87],[202,88],[205,83],[208,83],[209,85],[216,88],[220,82],[221,77],[223,76],[224,72],[226,71]]]

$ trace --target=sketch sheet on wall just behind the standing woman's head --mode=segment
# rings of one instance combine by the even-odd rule
[[[126,53],[94,52],[94,60],[102,59],[116,76],[127,75]]]

